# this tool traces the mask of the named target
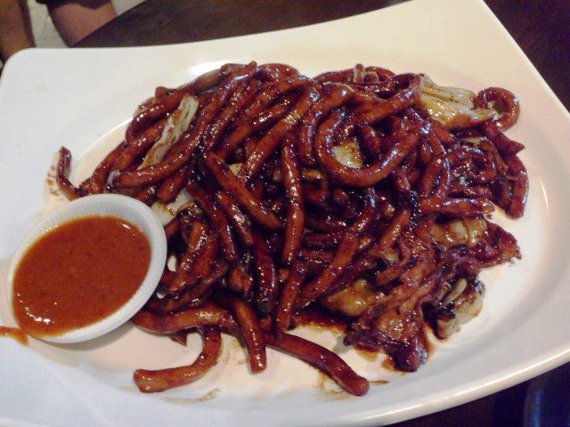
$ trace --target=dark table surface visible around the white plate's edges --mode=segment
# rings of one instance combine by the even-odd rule
[[[345,18],[403,1],[147,0],[85,37],[77,46],[175,44],[242,36]],[[566,109],[570,109],[570,1],[485,0],[485,3],[509,30]],[[216,24],[219,22],[224,22],[224,26]],[[570,425],[566,414],[568,393],[564,391],[564,382],[559,381],[568,374],[570,364],[483,399],[395,426]],[[536,396],[554,398],[541,401],[535,399]],[[531,413],[533,423],[528,421]]]

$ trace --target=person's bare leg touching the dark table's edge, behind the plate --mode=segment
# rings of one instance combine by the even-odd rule
[[[47,7],[55,28],[69,46],[117,16],[110,0],[65,0]]]

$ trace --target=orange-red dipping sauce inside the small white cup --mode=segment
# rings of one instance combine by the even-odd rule
[[[151,245],[111,216],[65,222],[24,254],[13,281],[13,312],[36,336],[60,335],[110,316],[141,286]]]

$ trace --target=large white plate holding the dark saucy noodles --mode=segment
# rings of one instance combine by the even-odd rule
[[[6,267],[20,239],[46,209],[47,174],[66,145],[79,159],[75,180],[116,144],[139,101],[157,85],[180,85],[227,61],[285,62],[308,76],[354,63],[424,72],[442,85],[478,91],[506,87],[522,114],[509,136],[525,143],[531,180],[525,217],[500,218],[523,260],[485,271],[478,318],[436,346],[417,373],[362,359],[330,333],[311,336],[338,350],[372,385],[362,398],[304,363],[269,354],[250,375],[243,350],[224,340],[224,355],[199,382],[143,395],[135,368],[188,363],[199,349],[126,325],[69,346],[0,339],[0,423],[48,425],[374,425],[428,414],[498,391],[570,359],[570,283],[566,213],[570,211],[570,116],[542,77],[479,0],[417,0],[305,28],[194,44],[128,49],[30,50],[8,62],[0,85],[0,313]],[[77,167],[78,166],[78,167]],[[47,207],[46,207],[47,206]]]

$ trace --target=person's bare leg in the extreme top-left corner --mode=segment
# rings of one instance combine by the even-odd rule
[[[0,0],[0,59],[34,47],[26,0]]]

